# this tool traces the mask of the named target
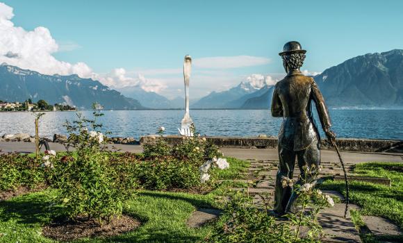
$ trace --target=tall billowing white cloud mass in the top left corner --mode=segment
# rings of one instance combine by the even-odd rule
[[[14,26],[13,17],[13,8],[0,3],[0,62],[42,74],[78,74],[85,78],[93,75],[84,62],[71,64],[52,56],[59,47],[49,29],[39,26],[33,31],[25,31]]]

